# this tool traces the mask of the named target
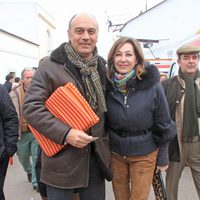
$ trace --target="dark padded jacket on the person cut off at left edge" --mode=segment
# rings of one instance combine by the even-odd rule
[[[18,117],[8,92],[0,85],[0,158],[17,151]]]

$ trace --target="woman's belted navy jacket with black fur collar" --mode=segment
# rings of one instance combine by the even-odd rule
[[[106,103],[106,126],[111,150],[126,156],[140,156],[159,148],[157,164],[168,164],[168,142],[175,135],[159,72],[146,67],[142,80],[128,81],[128,94],[120,93],[109,82]],[[134,136],[122,137],[122,133]]]

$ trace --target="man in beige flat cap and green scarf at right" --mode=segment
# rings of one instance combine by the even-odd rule
[[[169,146],[170,164],[166,174],[168,200],[178,199],[178,184],[186,165],[191,169],[200,199],[200,47],[177,49],[179,72],[162,82],[177,135]],[[190,192],[190,191],[188,191]]]

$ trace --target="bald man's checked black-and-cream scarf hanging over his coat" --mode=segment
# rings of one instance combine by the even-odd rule
[[[69,60],[79,69],[86,91],[86,99],[90,106],[97,114],[106,112],[105,97],[97,71],[97,49],[95,48],[93,57],[90,60],[83,61],[73,50],[70,43],[66,43],[64,48]]]

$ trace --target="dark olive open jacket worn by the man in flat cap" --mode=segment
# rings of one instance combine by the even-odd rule
[[[185,89],[180,84],[178,76],[166,79],[162,82],[162,85],[169,104],[171,118],[173,121],[176,121],[177,106],[185,95]],[[170,161],[180,162],[180,149],[177,137],[174,137],[169,144],[169,159]]]

